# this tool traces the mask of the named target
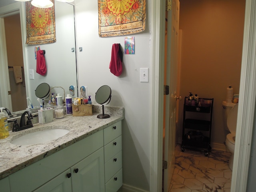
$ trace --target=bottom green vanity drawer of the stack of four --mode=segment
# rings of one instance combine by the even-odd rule
[[[105,192],[117,192],[123,184],[123,173],[120,169],[106,184]]]

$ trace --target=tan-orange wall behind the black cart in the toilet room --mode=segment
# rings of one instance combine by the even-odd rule
[[[245,0],[180,0],[180,95],[214,98],[212,142],[223,144],[226,88],[239,92]],[[184,102],[184,100],[182,101]],[[183,104],[178,138],[182,136]]]

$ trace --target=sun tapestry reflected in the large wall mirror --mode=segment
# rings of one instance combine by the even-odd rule
[[[56,42],[54,0],[50,8],[38,8],[26,2],[26,44],[38,45]]]

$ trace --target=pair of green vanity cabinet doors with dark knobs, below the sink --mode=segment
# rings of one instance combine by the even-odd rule
[[[34,192],[104,191],[103,159],[103,148],[100,148]]]

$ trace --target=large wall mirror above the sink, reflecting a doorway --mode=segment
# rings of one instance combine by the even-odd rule
[[[42,83],[50,85],[50,94],[60,93],[63,98],[69,94],[69,87],[74,86],[76,96],[78,82],[74,5],[55,1],[55,43],[27,45],[25,3],[12,1],[9,5],[0,5],[0,107],[6,107],[11,112],[25,110],[30,104],[26,98],[31,100],[33,106],[38,106],[35,90]],[[19,29],[20,37],[12,33]],[[15,38],[17,40],[14,40]],[[36,46],[40,46],[40,49],[46,52],[45,76],[36,73]],[[22,66],[24,69],[22,83],[15,82],[13,66]],[[30,74],[31,71],[34,77]]]

